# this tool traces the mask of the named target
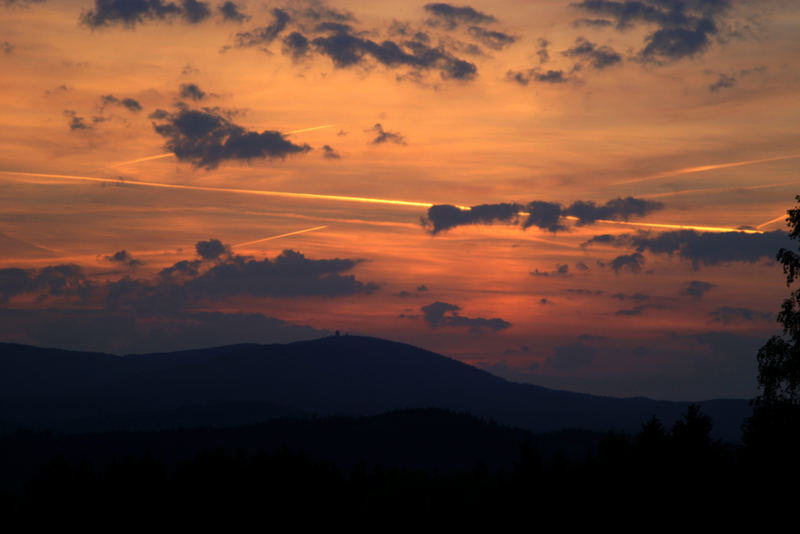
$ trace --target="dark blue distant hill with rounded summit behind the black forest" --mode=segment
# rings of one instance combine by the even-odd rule
[[[740,439],[745,400],[699,402],[714,434]],[[68,432],[235,426],[280,416],[437,407],[532,432],[669,426],[686,403],[518,384],[403,343],[334,336],[112,356],[0,344],[0,420]]]

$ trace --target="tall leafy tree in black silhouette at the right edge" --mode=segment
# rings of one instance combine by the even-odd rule
[[[800,195],[795,199],[800,206]],[[800,240],[800,207],[787,211],[789,238]],[[800,250],[799,250],[800,251]],[[800,255],[781,248],[786,285],[800,281]],[[759,463],[800,468],[800,289],[792,290],[781,306],[778,322],[783,335],[772,336],[758,351],[761,394],[752,401],[753,415],[745,423],[744,442]]]

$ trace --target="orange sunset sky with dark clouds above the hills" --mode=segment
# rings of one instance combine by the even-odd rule
[[[335,331],[752,397],[800,4],[0,0],[0,341]]]

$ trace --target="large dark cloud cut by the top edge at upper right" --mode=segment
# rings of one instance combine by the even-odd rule
[[[667,63],[704,52],[718,36],[728,0],[584,0],[573,7],[616,22],[617,29],[653,26],[638,52],[642,61]]]

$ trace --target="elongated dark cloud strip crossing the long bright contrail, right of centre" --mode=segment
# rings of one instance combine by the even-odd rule
[[[503,203],[482,204],[462,210],[449,204],[437,204],[428,209],[423,226],[431,234],[437,234],[456,226],[470,224],[521,224],[523,229],[535,226],[549,232],[566,230],[564,221],[569,218],[578,226],[594,224],[599,220],[627,221],[632,217],[644,217],[664,207],[660,202],[634,197],[616,198],[597,205],[591,201],[576,201],[569,206],[556,202],[534,200],[528,204]],[[526,216],[522,216],[526,213]]]

